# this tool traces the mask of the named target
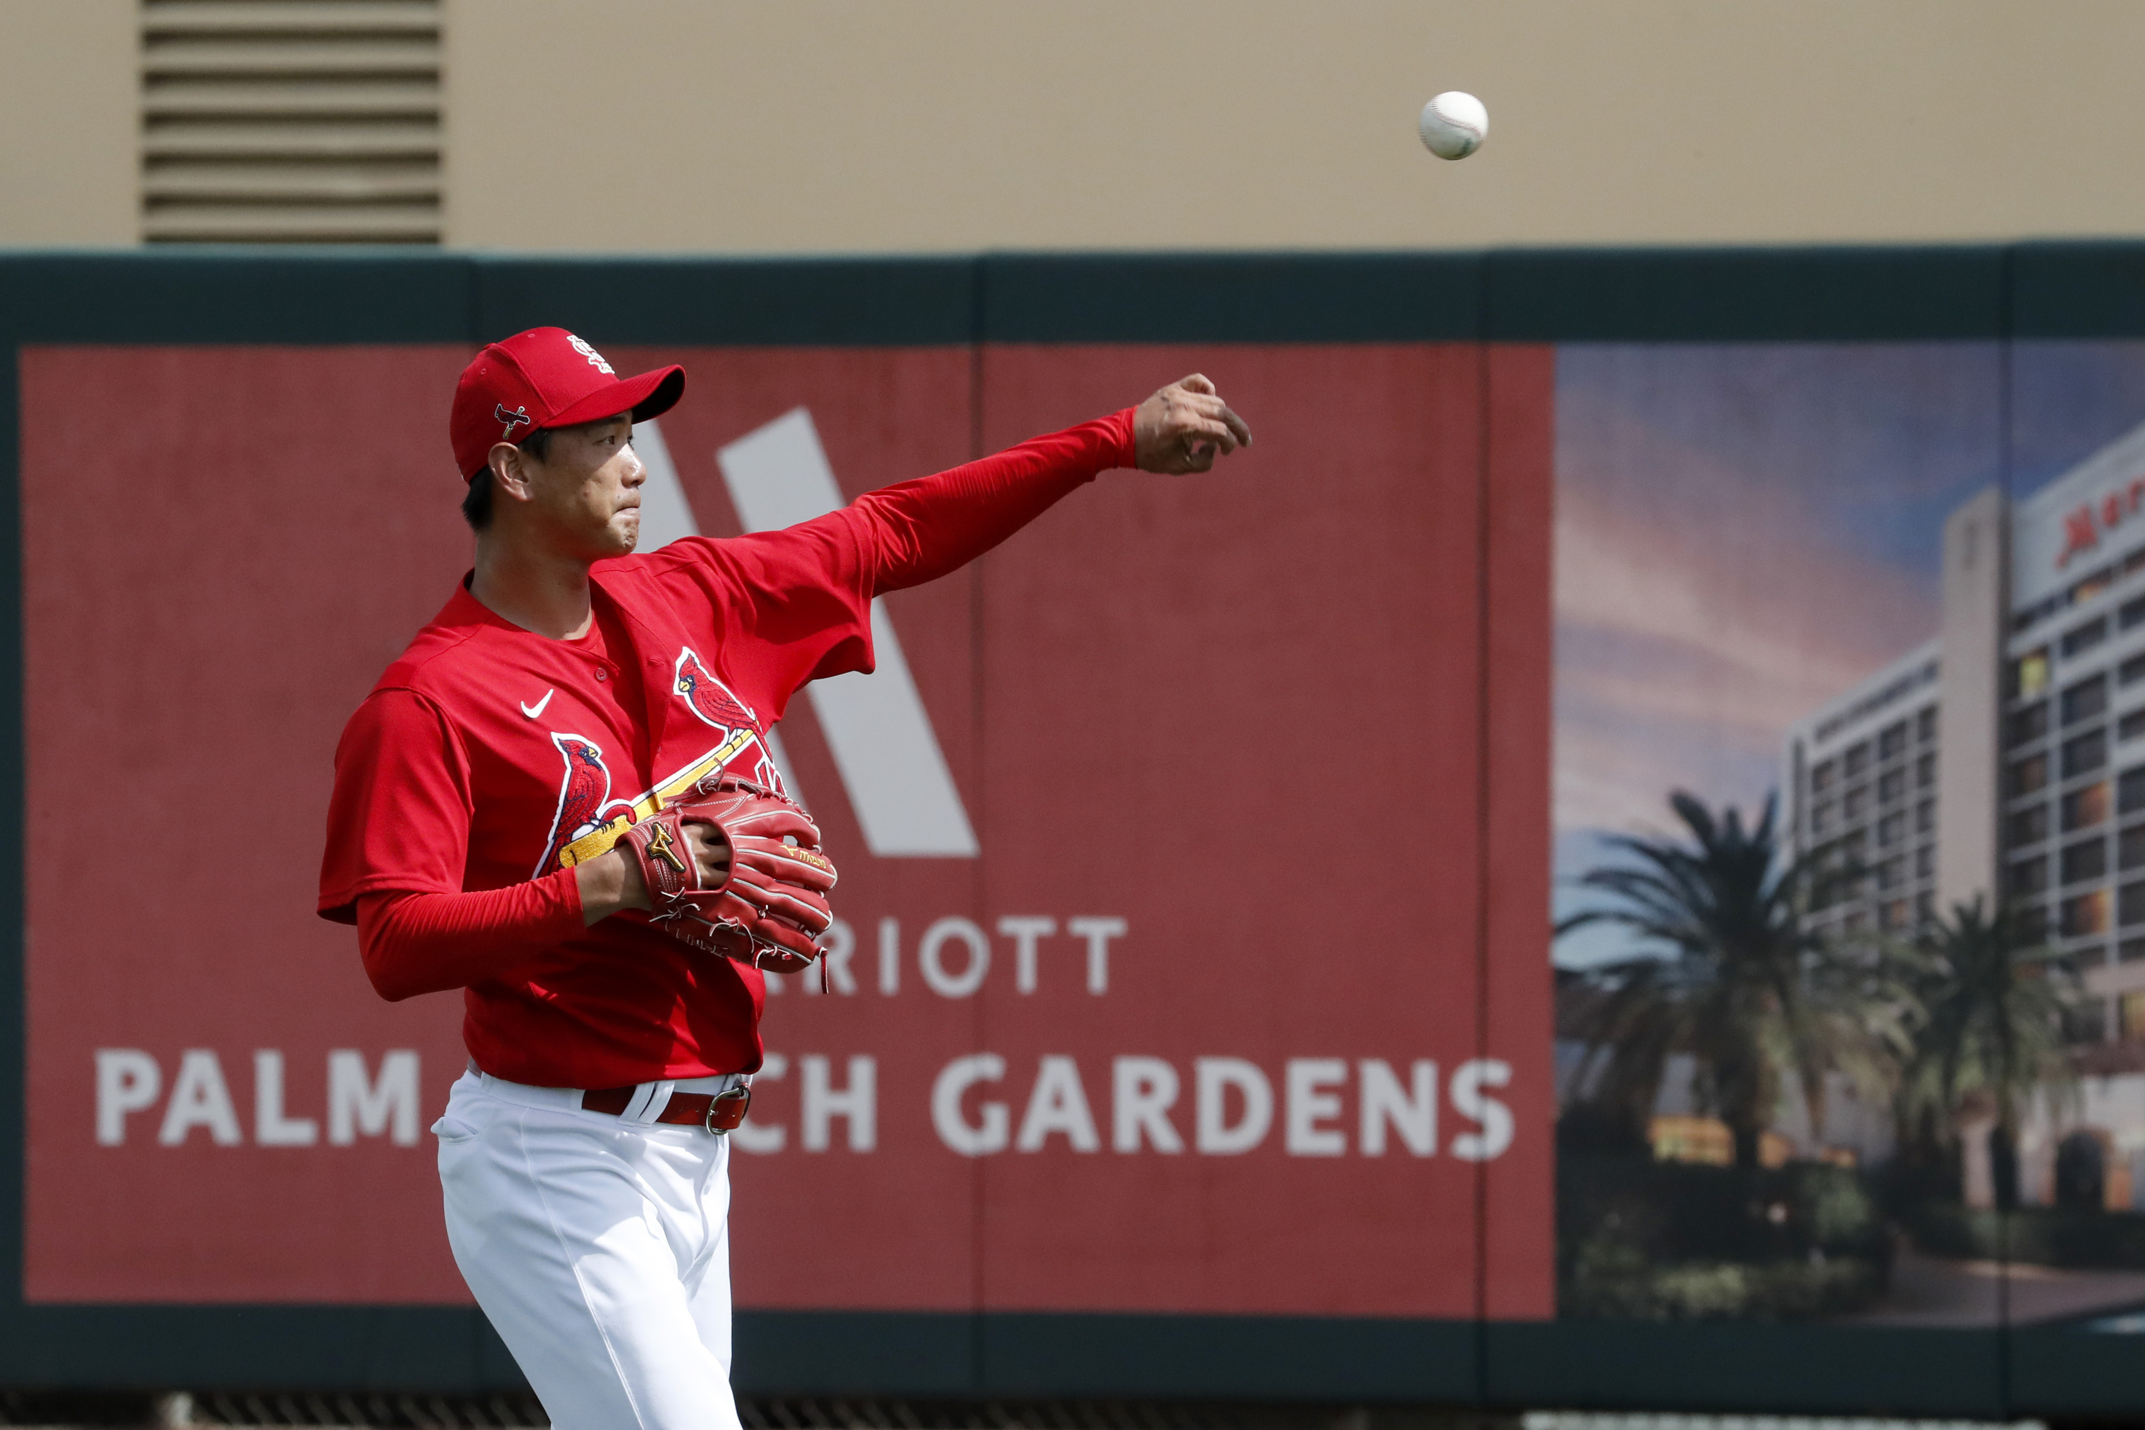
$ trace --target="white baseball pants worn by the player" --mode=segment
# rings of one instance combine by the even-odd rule
[[[472,1070],[431,1128],[455,1265],[558,1430],[740,1430],[729,1138],[635,1117],[669,1093],[611,1117]]]

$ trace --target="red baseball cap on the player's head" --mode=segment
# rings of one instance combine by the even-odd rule
[[[620,377],[601,352],[564,328],[530,328],[461,369],[446,427],[461,480],[470,480],[485,470],[495,442],[519,442],[545,427],[601,422],[620,412],[646,422],[676,407],[680,397],[682,367]]]

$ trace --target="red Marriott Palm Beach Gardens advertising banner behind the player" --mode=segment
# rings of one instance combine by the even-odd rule
[[[313,915],[335,738],[468,564],[465,356],[21,356],[30,1301],[468,1299],[459,1006]],[[1257,431],[884,598],[879,673],[792,705],[843,922],[768,1001],[738,1304],[1553,1314],[1549,352],[607,356],[691,373],[671,534],[1195,369]]]

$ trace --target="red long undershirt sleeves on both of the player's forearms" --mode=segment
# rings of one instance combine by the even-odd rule
[[[1075,487],[1118,465],[1133,465],[1130,409],[864,493],[847,515],[873,551],[873,594],[967,566]],[[581,888],[571,868],[500,890],[358,896],[358,952],[384,999],[500,978],[583,926]]]

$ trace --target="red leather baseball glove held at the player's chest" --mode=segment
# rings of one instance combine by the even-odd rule
[[[706,823],[729,843],[729,875],[701,881],[684,825]],[[789,800],[740,778],[701,780],[693,793],[628,828],[618,847],[648,881],[650,922],[701,952],[796,973],[819,956],[834,922],[826,905],[834,862],[819,825]]]

